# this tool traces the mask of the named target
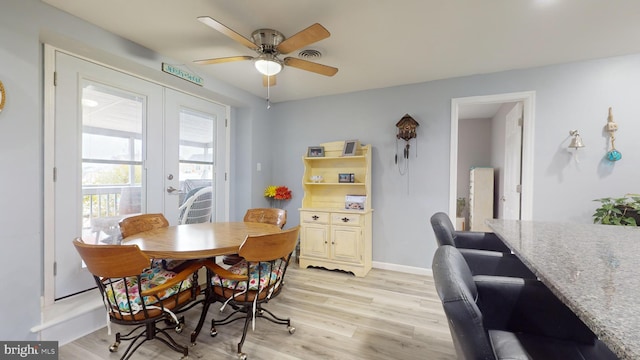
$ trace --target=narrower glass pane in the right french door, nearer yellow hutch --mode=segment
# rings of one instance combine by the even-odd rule
[[[211,114],[193,109],[180,109],[179,139],[179,222],[211,221],[215,199],[213,192],[203,194],[198,190],[215,188],[213,183],[216,126]],[[201,194],[200,199],[192,198]],[[191,212],[187,214],[186,212]]]

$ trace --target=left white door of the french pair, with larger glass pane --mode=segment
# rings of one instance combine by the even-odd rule
[[[95,286],[72,240],[118,241],[118,220],[162,211],[163,89],[139,78],[56,52],[54,297]],[[149,141],[153,139],[153,141]],[[162,156],[155,161],[162,166]]]

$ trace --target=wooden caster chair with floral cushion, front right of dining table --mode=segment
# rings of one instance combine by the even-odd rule
[[[238,254],[243,258],[239,263],[225,269],[207,260],[209,290],[206,304],[222,303],[222,312],[227,305],[233,311],[222,320],[211,320],[211,336],[218,334],[216,325],[225,325],[244,320],[242,338],[238,343],[238,357],[246,359],[242,345],[247,336],[249,324],[255,330],[256,318],[264,318],[273,323],[286,325],[290,334],[295,332],[290,319],[283,319],[263,307],[280,294],[291,254],[298,242],[300,226],[268,235],[249,235],[240,245]],[[191,341],[195,343],[207,311],[202,317]]]

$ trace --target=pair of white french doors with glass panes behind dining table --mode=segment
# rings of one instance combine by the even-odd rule
[[[54,298],[94,287],[75,237],[119,243],[118,221],[164,213],[177,223],[189,186],[212,186],[225,214],[222,105],[55,52]]]

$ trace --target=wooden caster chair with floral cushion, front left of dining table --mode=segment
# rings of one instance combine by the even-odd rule
[[[202,262],[173,272],[149,267],[149,257],[137,245],[94,245],[80,238],[73,245],[93,274],[109,321],[134,326],[127,334],[118,332],[109,351],[116,352],[121,341],[132,340],[121,357],[128,359],[144,342],[157,339],[184,357],[189,355],[188,347],[179,345],[167,330],[181,332],[184,318],[176,313],[198,303],[197,272]]]

